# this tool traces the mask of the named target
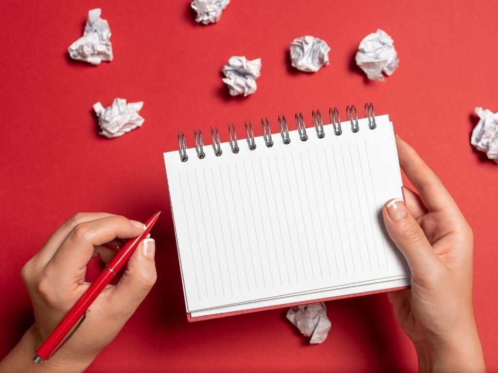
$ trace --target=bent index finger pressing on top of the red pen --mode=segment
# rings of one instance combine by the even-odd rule
[[[81,283],[95,246],[115,238],[137,237],[144,228],[143,223],[124,216],[108,216],[80,223],[71,230],[45,269],[59,278]]]

